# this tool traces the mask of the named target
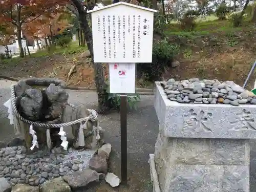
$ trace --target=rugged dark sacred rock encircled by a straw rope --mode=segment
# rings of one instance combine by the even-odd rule
[[[37,123],[68,123],[89,117],[89,111],[84,106],[68,104],[69,95],[65,87],[65,82],[55,78],[29,78],[20,80],[14,86],[16,109],[20,116]],[[23,122],[19,118],[15,118],[14,122],[15,132],[23,132],[25,144],[27,150],[29,150],[33,139],[30,134],[30,124]],[[98,129],[96,128],[97,131],[94,129],[95,127],[98,127]],[[74,136],[72,145],[74,148],[91,150],[103,144],[102,129],[98,126],[97,118],[94,120],[88,119],[82,123],[66,125],[65,129],[72,129]],[[36,133],[39,146],[44,146],[47,143],[50,149],[54,146],[58,147],[62,142],[60,135],[58,135],[60,127],[50,129],[34,125],[33,130]],[[100,138],[100,136],[101,139],[96,139]],[[81,137],[84,138],[82,142],[79,141]]]

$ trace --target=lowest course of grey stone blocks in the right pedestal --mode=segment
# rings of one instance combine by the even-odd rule
[[[169,165],[162,192],[249,192],[249,166]]]

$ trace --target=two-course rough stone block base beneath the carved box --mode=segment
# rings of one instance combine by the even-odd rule
[[[245,139],[158,136],[155,163],[162,192],[249,192]]]

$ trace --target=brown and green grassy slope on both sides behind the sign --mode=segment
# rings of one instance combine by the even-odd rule
[[[217,20],[215,16],[198,19],[192,32],[181,31],[177,23],[163,30],[170,43],[179,49],[177,60],[180,67],[166,71],[164,77],[186,79],[191,77],[233,80],[242,85],[256,59],[255,25],[245,22],[233,28],[227,20]],[[58,77],[66,80],[72,65],[76,74],[69,84],[74,86],[94,86],[94,73],[90,59],[79,55],[87,50],[72,42],[68,48],[38,51],[27,58],[13,58],[0,61],[0,74],[12,77],[29,76]],[[252,86],[255,75],[250,79]],[[138,80],[138,87],[152,87],[152,83]],[[248,89],[250,89],[249,87]]]

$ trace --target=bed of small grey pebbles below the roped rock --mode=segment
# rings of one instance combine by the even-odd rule
[[[25,146],[1,148],[0,178],[4,177],[13,185],[26,183],[36,186],[47,179],[65,176],[86,168],[93,156],[93,153],[89,154],[89,152],[84,154],[86,151],[79,152],[70,148],[68,152],[60,147],[55,148],[52,153],[45,150],[29,155],[26,152]]]

